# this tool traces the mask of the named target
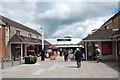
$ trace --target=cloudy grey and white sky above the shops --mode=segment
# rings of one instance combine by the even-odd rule
[[[118,11],[118,2],[2,2],[1,15],[46,37],[84,38]]]

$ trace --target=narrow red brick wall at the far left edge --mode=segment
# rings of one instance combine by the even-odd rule
[[[0,58],[5,56],[5,27],[0,28]]]

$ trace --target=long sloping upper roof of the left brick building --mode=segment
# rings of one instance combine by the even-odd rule
[[[13,27],[16,27],[18,29],[22,29],[22,30],[25,30],[25,31],[28,31],[28,32],[31,32],[31,33],[34,33],[34,34],[37,34],[37,35],[41,36],[41,34],[39,32],[37,32],[36,30],[33,30],[33,29],[31,29],[27,26],[24,26],[20,23],[17,23],[15,21],[10,20],[10,19],[8,19],[6,17],[3,17],[1,15],[0,15],[0,20],[2,20],[2,22],[4,22],[6,25],[13,26]]]

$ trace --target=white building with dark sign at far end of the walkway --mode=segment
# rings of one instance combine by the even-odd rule
[[[49,43],[52,44],[52,46],[56,46],[59,48],[64,47],[82,47],[81,45],[78,45],[82,39],[80,38],[48,38],[46,39]]]

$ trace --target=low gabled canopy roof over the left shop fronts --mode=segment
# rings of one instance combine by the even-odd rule
[[[39,45],[42,45],[42,40],[15,34],[10,39],[9,43],[24,43],[24,44],[39,44]],[[50,43],[45,41],[45,45],[50,45]]]

